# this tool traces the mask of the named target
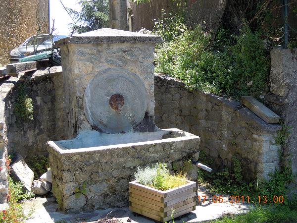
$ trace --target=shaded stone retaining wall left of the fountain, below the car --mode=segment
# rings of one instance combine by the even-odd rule
[[[12,77],[0,83],[6,89],[4,97],[4,142],[9,154],[25,159],[47,155],[46,143],[64,138],[63,79],[61,67],[28,72],[19,80]],[[18,118],[14,112],[17,86],[23,84],[33,100],[33,120]]]

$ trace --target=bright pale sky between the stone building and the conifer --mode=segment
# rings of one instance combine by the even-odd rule
[[[61,0],[64,6],[80,11],[81,6],[78,4],[79,0]],[[63,8],[60,0],[50,0],[50,27],[52,26],[52,19],[54,19],[54,27],[56,28],[54,34],[69,35],[71,31],[68,27],[69,23],[73,23],[71,17]]]

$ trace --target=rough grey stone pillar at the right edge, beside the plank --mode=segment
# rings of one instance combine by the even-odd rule
[[[271,56],[270,93],[266,104],[291,126],[289,153],[297,173],[297,49],[273,49]]]

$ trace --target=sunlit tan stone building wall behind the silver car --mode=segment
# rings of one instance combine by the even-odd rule
[[[49,30],[48,0],[0,0],[0,66],[30,36]]]

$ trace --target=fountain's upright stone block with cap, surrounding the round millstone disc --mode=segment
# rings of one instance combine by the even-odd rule
[[[101,35],[104,32],[109,33],[110,30],[112,29],[100,29],[92,33],[95,35],[98,32]],[[81,41],[79,38],[83,36],[70,38],[71,43],[67,43],[68,40],[57,42],[57,45],[61,45],[62,58],[64,58],[62,66],[64,69],[65,132],[68,139],[75,137],[79,129],[92,129],[84,111],[85,88],[97,74],[104,75],[110,68],[120,68],[135,73],[141,78],[150,99],[146,111],[148,111],[148,116],[154,117],[154,66],[152,62],[155,43],[151,41],[144,44],[142,41],[148,38],[145,35],[129,37],[131,40],[127,37],[115,40],[118,37],[114,32],[117,31],[112,31],[113,38],[100,37],[102,43],[94,43],[96,39],[92,37],[84,37],[85,39]],[[121,43],[122,40],[124,43]]]

